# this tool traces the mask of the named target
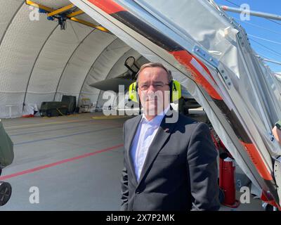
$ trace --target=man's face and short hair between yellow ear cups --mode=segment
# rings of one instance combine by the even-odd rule
[[[145,115],[158,115],[169,105],[168,75],[163,68],[145,68],[138,75],[138,95]]]

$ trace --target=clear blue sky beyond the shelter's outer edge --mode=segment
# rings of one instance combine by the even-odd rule
[[[260,11],[263,13],[271,13],[275,15],[281,15],[281,0],[214,0],[218,5],[241,6],[241,4],[248,4],[251,11]],[[240,21],[239,13],[227,12],[230,17],[233,17],[237,23],[240,23],[246,30],[249,36],[252,48],[261,56],[281,62],[281,20],[274,20],[274,22],[267,20],[266,18],[259,18],[256,16],[250,17],[250,20],[244,22]],[[251,25],[249,24],[251,23]],[[253,37],[254,36],[254,37]],[[263,39],[268,39],[266,41]],[[277,43],[273,43],[273,42]],[[268,49],[266,49],[266,47]],[[281,65],[275,63],[268,63],[271,70],[274,72],[281,72]]]

